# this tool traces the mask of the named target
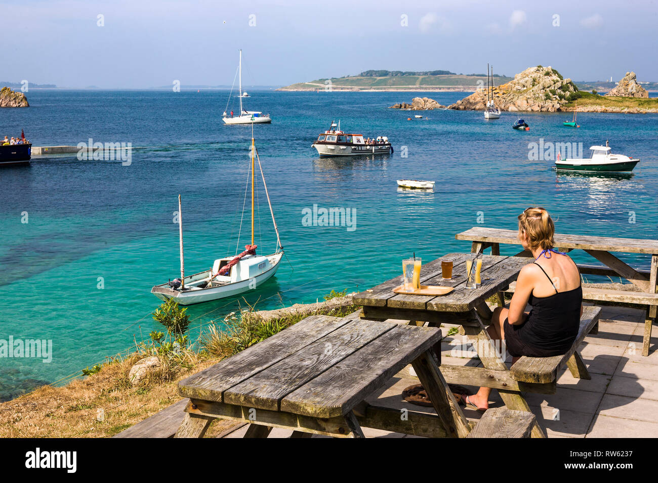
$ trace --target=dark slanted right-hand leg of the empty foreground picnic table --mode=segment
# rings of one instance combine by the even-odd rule
[[[445,430],[452,438],[465,438],[470,432],[468,421],[459,407],[452,391],[434,359],[432,352],[426,351],[411,363],[420,383],[432,401]]]

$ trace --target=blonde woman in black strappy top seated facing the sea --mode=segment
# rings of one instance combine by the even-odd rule
[[[520,356],[565,354],[578,336],[582,315],[580,272],[571,258],[553,248],[555,225],[544,208],[528,208],[519,215],[519,241],[534,262],[519,272],[509,309],[496,308],[488,332],[505,340],[513,363]],[[530,304],[532,310],[524,311]],[[482,387],[465,402],[472,409],[489,407],[491,388]]]

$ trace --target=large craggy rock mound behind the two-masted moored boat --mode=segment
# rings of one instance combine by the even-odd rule
[[[576,91],[578,87],[570,79],[563,79],[551,66],[536,66],[520,72],[512,81],[493,87],[490,96],[500,110],[555,112],[569,103],[569,96]],[[487,90],[480,89],[448,108],[484,110],[486,102]]]

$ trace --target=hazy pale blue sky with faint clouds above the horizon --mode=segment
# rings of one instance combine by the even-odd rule
[[[288,85],[363,70],[537,64],[658,81],[653,0],[0,0],[0,81],[108,89]]]

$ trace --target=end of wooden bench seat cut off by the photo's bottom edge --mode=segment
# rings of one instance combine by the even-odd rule
[[[484,412],[467,438],[530,438],[535,421],[528,411],[494,407]]]

